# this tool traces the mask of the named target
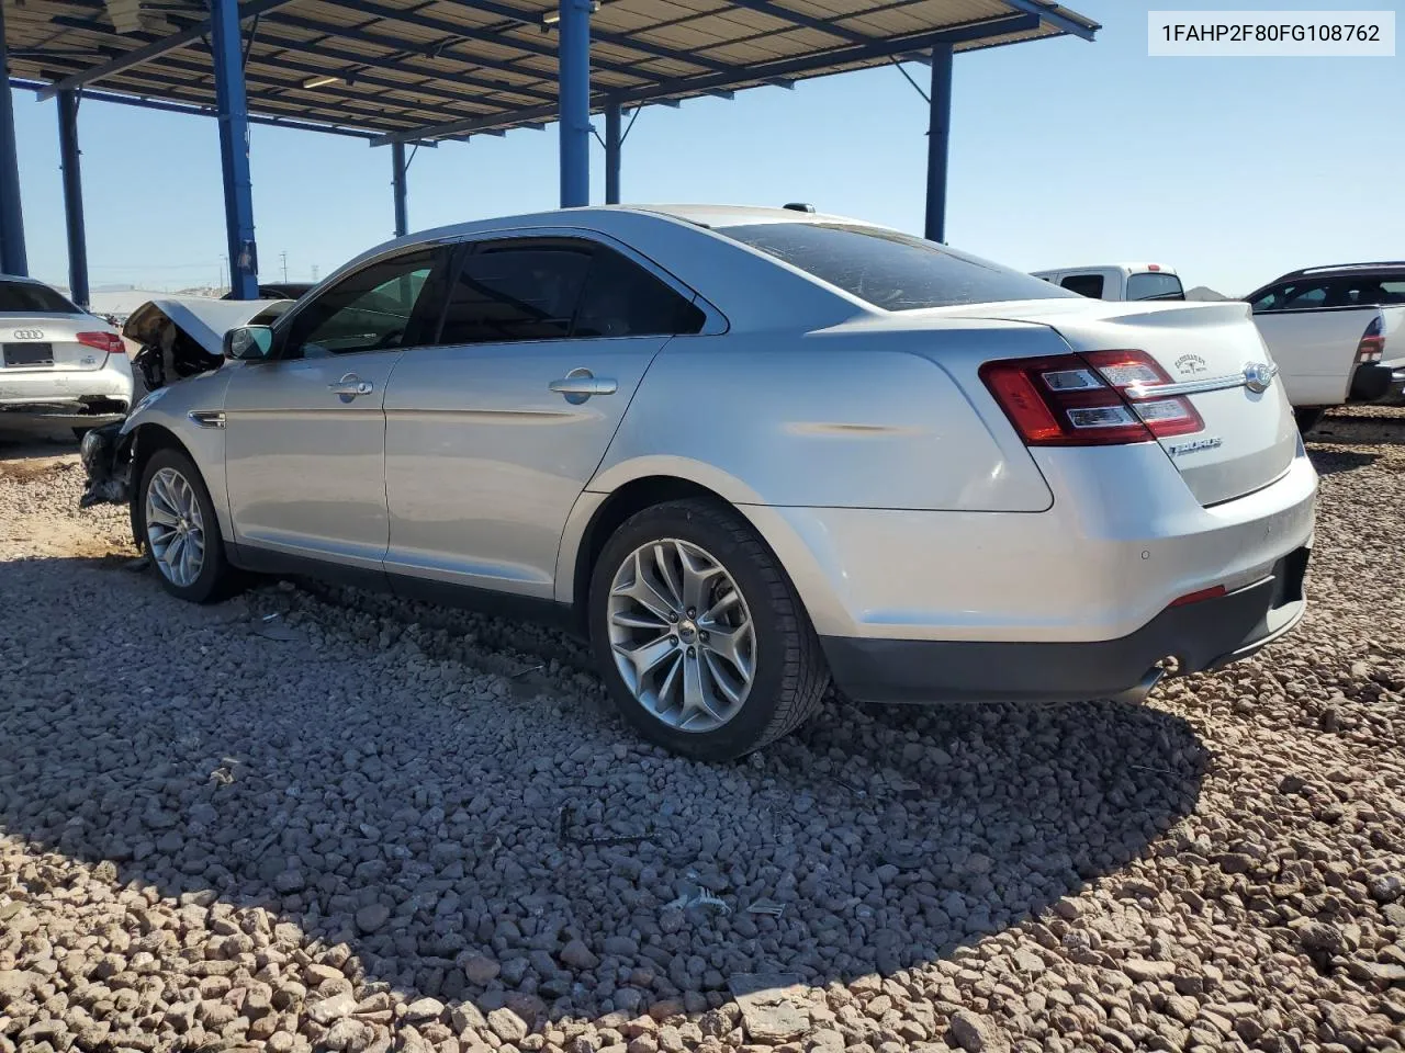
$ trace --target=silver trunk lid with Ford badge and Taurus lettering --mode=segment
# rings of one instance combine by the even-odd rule
[[[1128,303],[1072,299],[944,307],[943,317],[1035,322],[1079,354],[1137,350],[1165,371],[1204,427],[1159,439],[1186,486],[1218,504],[1279,479],[1297,452],[1297,430],[1269,352],[1245,303]]]

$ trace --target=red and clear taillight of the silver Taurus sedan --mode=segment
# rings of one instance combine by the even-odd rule
[[[1010,358],[986,362],[981,379],[1030,446],[1106,446],[1189,435],[1205,427],[1145,351]],[[1145,390],[1152,389],[1152,390]]]

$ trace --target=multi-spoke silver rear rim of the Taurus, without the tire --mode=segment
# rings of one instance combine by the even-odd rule
[[[610,647],[639,705],[680,731],[735,717],[756,675],[756,630],[736,581],[679,538],[641,545],[615,571]]]

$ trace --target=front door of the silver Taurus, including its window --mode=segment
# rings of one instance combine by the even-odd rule
[[[281,319],[270,359],[235,369],[225,479],[239,545],[381,571],[386,385],[437,324],[450,256],[429,246],[368,263]]]

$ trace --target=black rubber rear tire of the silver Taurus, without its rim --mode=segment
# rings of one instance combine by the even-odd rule
[[[752,614],[756,670],[740,710],[710,731],[684,731],[653,716],[615,668],[607,625],[615,571],[641,545],[663,538],[691,542],[732,576]],[[628,518],[606,542],[592,573],[590,640],[621,716],[641,736],[672,753],[731,761],[788,734],[815,715],[829,685],[829,665],[809,615],[778,560],[735,511],[704,500],[669,501]]]

